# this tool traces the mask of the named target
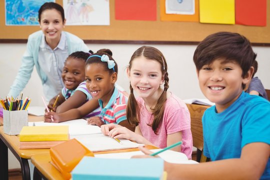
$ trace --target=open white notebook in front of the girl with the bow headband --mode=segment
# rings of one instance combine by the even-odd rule
[[[89,125],[85,119],[74,119],[68,120],[60,123],[52,123],[52,122],[34,122],[36,126],[56,126],[56,125],[68,125],[68,133],[70,138],[72,135],[83,135],[83,134],[95,134],[101,133],[100,127],[97,125]],[[32,126],[33,122],[28,122],[28,126]]]

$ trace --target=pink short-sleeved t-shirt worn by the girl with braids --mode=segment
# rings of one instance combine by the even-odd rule
[[[167,146],[167,134],[182,132],[181,152],[190,159],[192,153],[192,134],[190,129],[190,114],[185,103],[174,94],[167,97],[162,123],[157,130],[157,135],[152,130],[152,113],[147,111],[141,97],[137,98],[140,107],[140,131],[147,140],[159,148]],[[180,140],[180,139],[179,139]]]

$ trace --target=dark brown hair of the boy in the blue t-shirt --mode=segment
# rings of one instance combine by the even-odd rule
[[[210,64],[217,58],[224,58],[238,63],[242,69],[242,77],[252,66],[256,53],[243,35],[233,32],[216,32],[208,35],[197,46],[193,61],[200,70],[205,64]]]

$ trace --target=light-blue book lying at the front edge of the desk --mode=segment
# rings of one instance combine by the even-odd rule
[[[159,180],[163,179],[161,158],[98,158],[84,156],[72,170],[72,180]]]

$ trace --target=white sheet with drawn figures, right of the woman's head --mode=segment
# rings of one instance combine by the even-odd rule
[[[63,0],[66,25],[109,25],[109,0]]]

